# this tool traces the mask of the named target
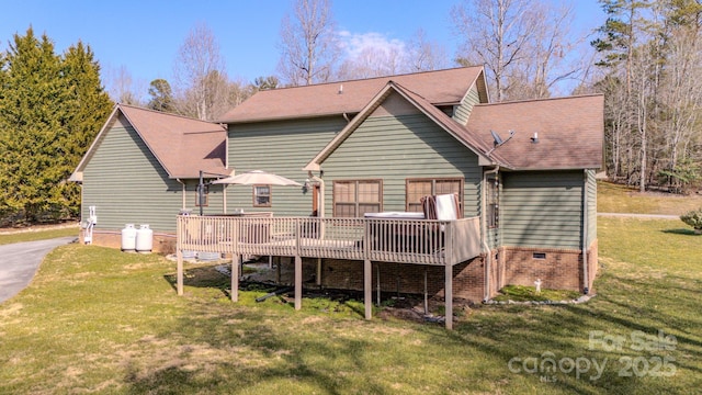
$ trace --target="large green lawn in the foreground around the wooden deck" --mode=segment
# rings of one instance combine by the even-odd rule
[[[295,312],[244,291],[233,304],[211,266],[188,267],[179,297],[160,256],[64,246],[0,304],[0,394],[699,391],[702,236],[677,221],[600,218],[598,232],[590,302],[478,306],[453,331],[366,321],[361,302]]]

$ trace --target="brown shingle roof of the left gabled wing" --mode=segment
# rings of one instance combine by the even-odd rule
[[[123,115],[170,178],[197,178],[200,170],[223,172],[226,163],[226,128],[184,116],[116,104],[94,142],[71,176],[82,171],[99,149],[106,133]]]

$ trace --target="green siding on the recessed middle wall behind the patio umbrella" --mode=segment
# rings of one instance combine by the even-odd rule
[[[341,116],[316,120],[229,125],[228,167],[236,173],[264,170],[303,183],[305,167],[347,121]],[[272,187],[272,206],[253,207],[253,188],[227,187],[227,210],[272,211],[280,216],[312,213],[312,193],[299,187]]]

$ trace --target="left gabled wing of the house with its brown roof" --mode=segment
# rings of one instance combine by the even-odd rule
[[[93,242],[120,247],[125,224],[148,224],[156,249],[172,245],[176,215],[199,208],[200,170],[227,171],[226,133],[219,124],[115,105],[71,176],[82,184],[81,217],[95,207]],[[207,212],[222,213],[222,193],[210,188]]]

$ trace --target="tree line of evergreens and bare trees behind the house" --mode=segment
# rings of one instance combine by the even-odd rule
[[[331,1],[295,0],[281,21],[275,75],[230,79],[216,37],[199,24],[180,46],[171,81],[152,80],[147,100],[124,67],[107,93],[89,45],[56,54],[30,27],[0,53],[0,222],[77,215],[79,188],[67,179],[113,100],[217,121],[263,89],[469,65],[485,66],[494,102],[604,93],[608,174],[641,191],[687,192],[702,178],[701,2],[599,0],[608,19],[588,37],[571,31],[569,4],[462,0],[446,15],[455,54],[418,30],[404,45],[349,56]]]

